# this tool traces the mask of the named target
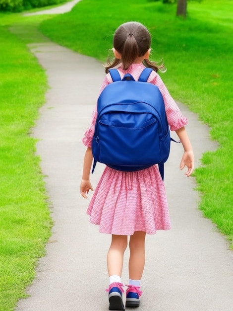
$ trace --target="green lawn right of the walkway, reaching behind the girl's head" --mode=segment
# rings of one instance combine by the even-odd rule
[[[163,57],[162,75],[176,100],[188,105],[211,128],[220,144],[196,169],[200,208],[233,248],[233,1],[188,3],[188,18],[175,16],[175,5],[147,0],[82,0],[40,29],[61,45],[105,62],[119,24],[137,20],[152,34],[153,59]],[[97,14],[98,12],[98,14]],[[190,135],[191,136],[191,135]]]

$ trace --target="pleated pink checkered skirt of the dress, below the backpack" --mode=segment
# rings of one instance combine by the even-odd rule
[[[154,234],[171,228],[166,191],[157,165],[123,172],[106,167],[87,214],[101,233]]]

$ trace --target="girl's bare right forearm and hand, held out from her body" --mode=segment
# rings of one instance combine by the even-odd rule
[[[188,170],[184,173],[184,175],[189,177],[194,170],[194,154],[192,151],[192,145],[190,143],[188,134],[184,126],[176,130],[175,133],[178,135],[184,149],[184,154],[182,156],[179,168],[183,169],[184,166],[186,165]]]

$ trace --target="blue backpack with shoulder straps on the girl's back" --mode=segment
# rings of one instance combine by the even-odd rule
[[[121,80],[117,69],[109,71],[113,83],[106,86],[97,103],[92,173],[97,161],[121,171],[159,164],[164,177],[170,129],[158,86],[147,83],[152,71],[145,68],[138,81],[130,74]]]

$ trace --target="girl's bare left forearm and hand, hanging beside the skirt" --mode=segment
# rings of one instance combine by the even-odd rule
[[[91,171],[91,165],[92,165],[92,150],[90,147],[87,147],[84,161],[83,161],[83,174],[82,174],[82,180],[80,185],[80,193],[81,196],[87,199],[86,194],[89,192],[89,190],[93,191],[91,182],[90,182],[90,171]]]

